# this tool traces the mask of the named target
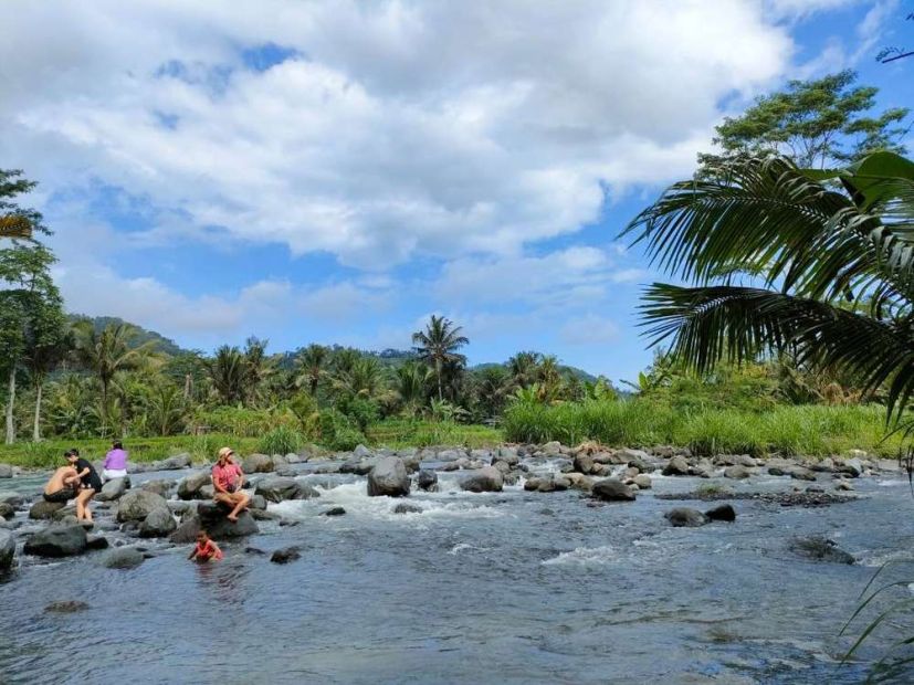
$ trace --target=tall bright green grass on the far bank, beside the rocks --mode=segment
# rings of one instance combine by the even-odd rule
[[[577,444],[687,446],[698,454],[824,456],[848,450],[897,455],[901,439],[885,439],[882,407],[778,407],[770,411],[674,411],[643,400],[516,404],[505,414],[512,442],[558,440]]]

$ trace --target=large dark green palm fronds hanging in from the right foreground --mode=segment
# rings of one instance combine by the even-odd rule
[[[731,160],[671,186],[624,233],[693,283],[654,283],[642,305],[679,360],[703,371],[789,352],[859,373],[864,392],[886,384],[887,418],[901,417],[914,390],[914,162]]]

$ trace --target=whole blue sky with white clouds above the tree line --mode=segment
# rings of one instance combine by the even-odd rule
[[[518,350],[632,379],[663,280],[620,231],[714,126],[845,67],[914,106],[903,0],[4,0],[0,168],[67,309],[211,351],[250,335]]]

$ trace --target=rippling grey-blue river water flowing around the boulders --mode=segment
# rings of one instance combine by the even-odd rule
[[[858,479],[858,500],[823,508],[734,500],[736,523],[702,528],[662,514],[707,506],[653,496],[708,483],[694,478],[656,477],[635,503],[591,507],[574,491],[462,493],[441,474],[441,492],[409,498],[421,514],[398,515],[364,478],[301,477],[319,499],[271,505],[297,524],[261,523],[217,565],[146,541],[159,554],[129,571],[102,568],[105,552],[20,556],[0,584],[0,682],[857,683],[905,630],[839,666],[859,592],[914,541],[901,476]],[[319,516],[335,505],[347,514]],[[860,563],[801,559],[787,547],[800,535]],[[245,551],[288,545],[302,558],[285,566]],[[45,613],[56,600],[90,609]]]

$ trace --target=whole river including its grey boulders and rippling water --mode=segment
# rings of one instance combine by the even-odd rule
[[[906,474],[862,454],[549,443],[243,465],[239,524],[186,456],[106,485],[90,530],[38,498],[43,475],[0,479],[0,625],[17,626],[0,673],[851,683],[866,665],[838,667],[838,632],[911,542]],[[221,563],[185,561],[200,527]],[[91,654],[75,666],[73,641]]]

